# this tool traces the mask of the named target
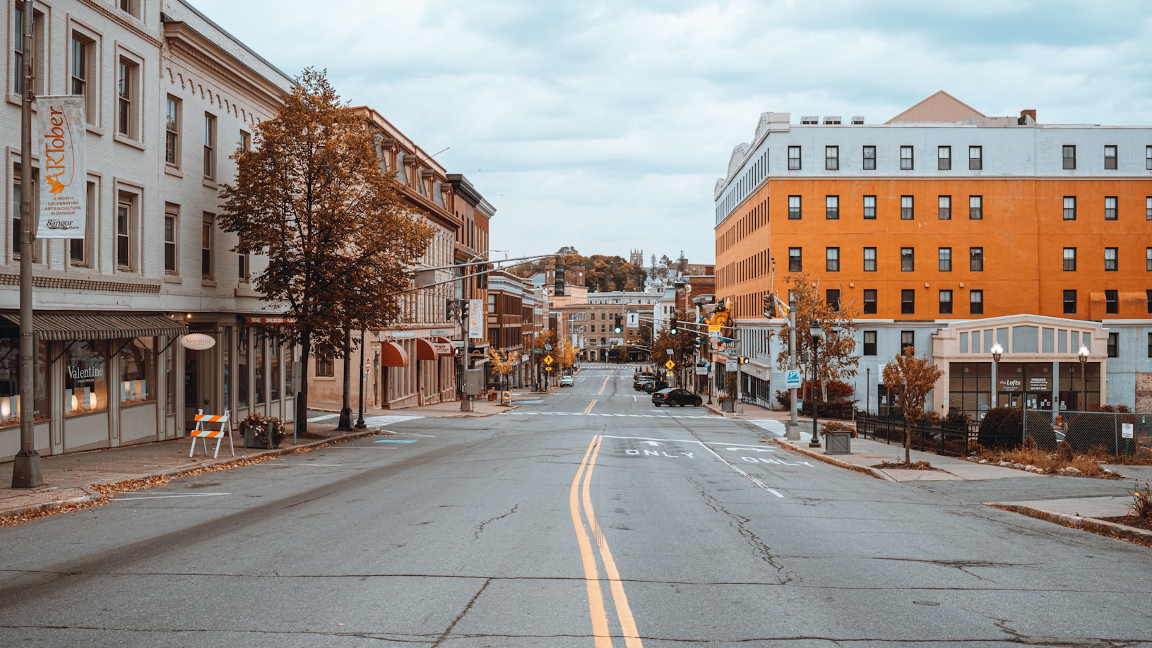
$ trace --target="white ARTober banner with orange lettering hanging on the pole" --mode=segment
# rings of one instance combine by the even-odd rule
[[[37,97],[40,152],[40,224],[37,238],[84,238],[88,167],[84,161],[84,98]]]

